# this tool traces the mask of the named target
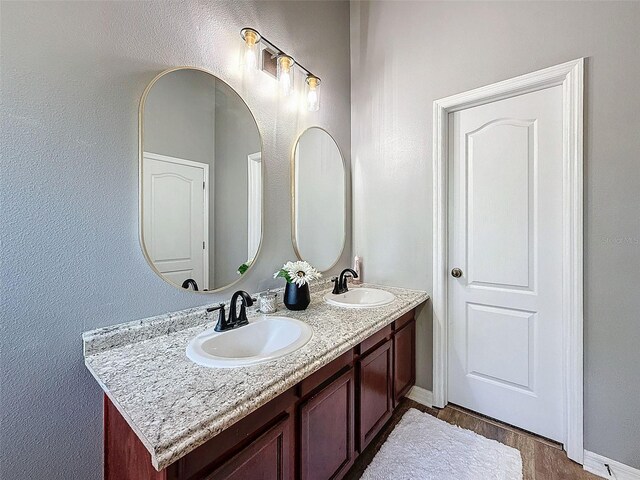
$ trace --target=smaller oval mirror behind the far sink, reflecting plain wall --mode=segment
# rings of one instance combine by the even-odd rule
[[[321,128],[305,130],[296,142],[292,194],[296,254],[318,270],[329,270],[346,239],[346,183],[338,145]]]

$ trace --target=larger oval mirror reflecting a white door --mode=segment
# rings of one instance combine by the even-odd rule
[[[149,84],[140,104],[140,238],[162,278],[212,291],[251,265],[262,240],[261,151],[249,108],[211,73],[178,68]]]

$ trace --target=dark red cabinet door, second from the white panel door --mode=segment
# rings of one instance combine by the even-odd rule
[[[361,358],[358,365],[362,452],[393,413],[391,340]]]

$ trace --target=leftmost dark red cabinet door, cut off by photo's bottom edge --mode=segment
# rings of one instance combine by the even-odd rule
[[[203,480],[293,480],[292,422],[287,415]]]

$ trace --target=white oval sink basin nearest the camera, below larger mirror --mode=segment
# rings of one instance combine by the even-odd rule
[[[312,335],[309,325],[300,320],[263,315],[235,330],[205,330],[189,342],[187,357],[205,367],[255,365],[299,349]]]

